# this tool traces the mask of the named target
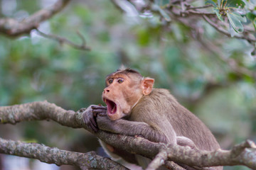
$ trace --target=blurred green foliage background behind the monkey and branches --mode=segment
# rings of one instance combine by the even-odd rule
[[[22,19],[51,4],[0,0],[0,17]],[[78,111],[102,103],[105,76],[124,64],[154,78],[156,88],[169,89],[208,125],[223,149],[247,139],[256,142],[252,47],[226,38],[203,20],[197,24],[201,36],[181,23],[166,25],[159,16],[129,16],[111,1],[72,1],[41,23],[39,30],[80,43],[79,30],[92,50],[75,50],[34,31],[16,39],[0,35],[0,106],[47,100]],[[77,152],[101,152],[89,132],[53,122],[0,125],[0,135]]]

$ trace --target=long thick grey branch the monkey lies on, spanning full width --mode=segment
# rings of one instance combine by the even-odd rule
[[[74,111],[65,111],[63,108],[55,106],[53,103],[48,103],[47,101],[25,103],[15,106],[2,106],[0,107],[0,118],[1,123],[11,124],[23,120],[50,119],[68,127],[85,128],[86,130],[89,130],[83,123],[82,113],[80,111],[76,113]],[[98,125],[100,126],[100,123],[106,118],[107,117],[98,116]],[[133,154],[141,154],[150,159],[154,159],[159,152],[165,150],[169,161],[186,164],[188,166],[208,167],[245,165],[251,169],[256,169],[256,146],[255,143],[250,140],[247,140],[240,145],[236,145],[229,151],[219,149],[217,151],[208,152],[178,145],[150,142],[142,137],[111,134],[102,130],[99,130],[94,134],[99,137],[100,140],[103,140],[118,149],[124,149]],[[1,150],[3,149],[4,148],[1,148]],[[154,162],[156,162],[156,160]]]

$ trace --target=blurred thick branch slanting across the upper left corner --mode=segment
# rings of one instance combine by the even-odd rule
[[[30,33],[31,30],[38,28],[42,21],[46,21],[55,13],[61,11],[69,1],[70,0],[58,0],[53,6],[37,11],[28,18],[23,19],[23,21],[17,21],[14,18],[1,18],[0,33],[4,33],[11,37]]]

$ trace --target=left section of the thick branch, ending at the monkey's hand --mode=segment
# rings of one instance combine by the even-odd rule
[[[66,111],[47,101],[0,107],[0,123],[16,124],[24,120],[46,119],[72,128],[87,128],[82,121],[82,115],[75,111]]]

